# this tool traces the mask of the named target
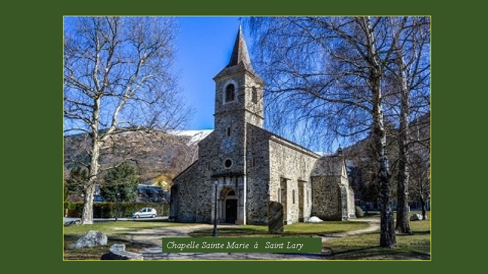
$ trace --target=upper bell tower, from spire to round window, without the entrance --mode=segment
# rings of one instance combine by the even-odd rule
[[[246,174],[246,124],[263,127],[263,80],[257,76],[239,26],[229,63],[215,77],[217,174]]]

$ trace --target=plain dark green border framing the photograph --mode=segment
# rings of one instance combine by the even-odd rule
[[[46,2],[23,4],[22,10],[5,9],[2,46],[4,68],[8,77],[2,89],[3,136],[8,163],[4,165],[8,185],[4,201],[8,208],[19,205],[28,218],[13,219],[9,234],[4,234],[8,251],[15,255],[19,268],[56,269],[67,272],[110,271],[187,271],[250,272],[257,269],[285,272],[427,272],[442,266],[453,270],[466,260],[481,259],[464,242],[479,244],[470,237],[481,225],[456,225],[454,218],[470,218],[465,209],[476,207],[477,217],[484,217],[485,208],[478,206],[475,195],[479,182],[473,174],[482,172],[480,162],[460,152],[476,150],[484,144],[471,124],[484,123],[484,108],[476,106],[486,93],[486,86],[477,86],[484,79],[485,68],[469,63],[484,58],[483,44],[477,42],[485,30],[483,9],[467,3],[448,4],[427,1],[299,1],[279,4],[264,1],[210,4],[152,4],[134,1],[101,3],[99,1],[64,2],[53,7]],[[397,7],[395,7],[397,6]],[[29,10],[25,10],[29,9]],[[16,11],[16,12],[11,12]],[[12,15],[10,15],[12,14]],[[15,15],[14,15],[15,14]],[[75,262],[62,259],[62,33],[63,15],[432,15],[432,261],[431,262],[343,262],[343,261],[232,261],[232,262]],[[465,15],[464,15],[465,14]],[[471,30],[471,33],[470,31]],[[472,35],[470,35],[472,34]],[[475,56],[476,55],[476,56]],[[478,103],[480,104],[480,103]],[[461,115],[460,115],[461,114]],[[464,115],[463,115],[464,114]],[[469,118],[468,118],[469,117]],[[6,157],[4,156],[4,157]],[[4,158],[5,159],[5,158]],[[485,160],[484,160],[485,161]],[[4,176],[5,176],[4,175]],[[22,190],[22,191],[21,191]],[[478,192],[478,191],[475,191]],[[482,192],[481,193],[486,193]],[[31,202],[32,201],[32,202]],[[18,223],[18,225],[17,225]],[[20,240],[20,243],[19,243]],[[481,253],[480,253],[481,254]],[[452,266],[452,267],[450,267]]]

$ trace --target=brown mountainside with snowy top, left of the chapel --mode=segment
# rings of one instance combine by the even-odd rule
[[[198,142],[211,132],[212,130],[179,130],[120,133],[104,144],[101,167],[130,159],[137,166],[142,183],[161,184],[164,181],[168,185],[168,181],[197,159]],[[90,141],[86,134],[65,136],[66,174],[69,174],[72,167],[89,162],[89,146]]]

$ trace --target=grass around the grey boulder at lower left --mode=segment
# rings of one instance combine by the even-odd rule
[[[64,227],[64,252],[65,260],[100,260],[100,257],[109,251],[113,244],[125,244],[126,250],[136,251],[147,247],[152,247],[149,244],[131,242],[129,237],[125,234],[132,231],[171,227],[171,226],[187,226],[194,225],[189,223],[173,223],[167,220],[156,221],[107,221],[96,222],[93,225],[71,225]],[[107,245],[91,248],[71,249],[71,244],[75,243],[77,239],[88,232],[89,230],[99,230],[107,235]]]

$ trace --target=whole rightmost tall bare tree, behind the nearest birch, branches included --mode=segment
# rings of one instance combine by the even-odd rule
[[[392,79],[389,102],[398,102],[392,109],[399,116],[398,168],[396,174],[396,230],[410,233],[408,218],[409,147],[412,143],[409,124],[411,113],[430,110],[430,18],[390,17],[394,57],[386,66]],[[395,39],[397,37],[397,39]],[[410,104],[412,100],[413,104]]]

